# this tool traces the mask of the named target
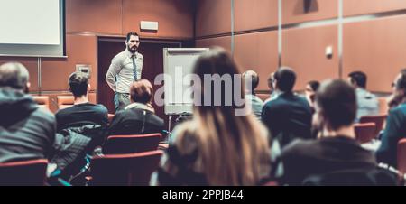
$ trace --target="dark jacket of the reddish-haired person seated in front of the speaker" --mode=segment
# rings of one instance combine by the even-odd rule
[[[109,135],[162,133],[163,120],[149,108],[133,106],[115,114],[109,127]]]

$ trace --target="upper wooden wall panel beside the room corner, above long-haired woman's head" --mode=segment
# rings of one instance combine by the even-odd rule
[[[198,0],[196,36],[231,32],[230,0]]]

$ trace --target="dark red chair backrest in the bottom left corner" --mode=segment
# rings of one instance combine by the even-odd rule
[[[43,186],[47,160],[0,163],[1,186]]]

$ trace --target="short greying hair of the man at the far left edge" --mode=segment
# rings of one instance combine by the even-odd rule
[[[0,87],[24,90],[30,75],[19,62],[8,62],[0,66]]]

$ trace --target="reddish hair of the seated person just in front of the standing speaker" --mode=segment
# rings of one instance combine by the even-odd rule
[[[131,99],[134,102],[147,104],[152,101],[153,88],[152,84],[147,79],[135,81],[130,88]]]

